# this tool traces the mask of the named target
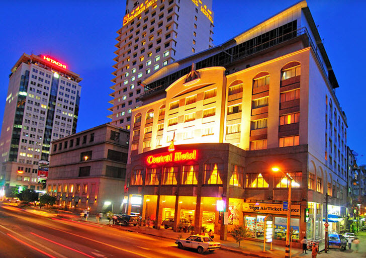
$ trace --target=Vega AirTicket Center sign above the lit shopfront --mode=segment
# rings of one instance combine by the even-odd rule
[[[266,213],[266,214],[287,214],[287,210],[283,209],[283,204],[278,203],[244,203],[244,212]],[[291,205],[291,215],[300,216],[300,205]]]

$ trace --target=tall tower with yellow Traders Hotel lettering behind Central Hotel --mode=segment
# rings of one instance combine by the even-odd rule
[[[142,105],[145,78],[213,46],[211,7],[212,0],[126,1],[112,73],[112,125],[130,130],[132,109]]]

